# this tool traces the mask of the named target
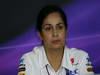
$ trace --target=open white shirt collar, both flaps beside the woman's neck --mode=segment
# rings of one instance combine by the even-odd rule
[[[39,64],[41,69],[43,69],[46,65],[50,65],[49,61],[47,59],[44,47],[41,46],[39,51]],[[72,70],[72,64],[70,62],[70,50],[65,46],[64,48],[64,55],[61,63],[61,67],[64,67],[66,69]]]

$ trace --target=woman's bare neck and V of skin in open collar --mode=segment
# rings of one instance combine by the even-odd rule
[[[57,71],[62,62],[64,48],[45,48],[45,52],[50,65],[53,67],[55,71]]]

